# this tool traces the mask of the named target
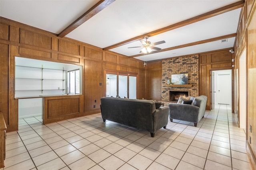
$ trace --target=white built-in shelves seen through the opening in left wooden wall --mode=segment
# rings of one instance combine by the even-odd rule
[[[67,70],[44,68],[43,65],[15,66],[16,97],[39,96],[38,93],[42,95],[44,91],[48,91],[45,95],[67,93]]]

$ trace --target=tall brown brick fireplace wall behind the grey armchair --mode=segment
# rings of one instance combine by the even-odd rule
[[[179,86],[168,85],[168,80],[171,81],[172,74],[184,74],[188,73],[188,84],[192,86]],[[184,56],[175,57],[162,60],[162,102],[164,106],[168,106],[169,103],[176,103],[179,96],[175,96],[176,99],[171,101],[170,91],[185,93],[187,96],[199,95],[199,56]],[[179,94],[178,94],[179,95]],[[184,95],[184,94],[182,94]]]

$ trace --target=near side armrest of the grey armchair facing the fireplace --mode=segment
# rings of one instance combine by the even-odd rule
[[[169,104],[170,119],[197,123],[200,107],[189,104]]]

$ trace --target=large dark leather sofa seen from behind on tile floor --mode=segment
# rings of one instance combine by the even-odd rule
[[[102,119],[121,123],[148,131],[154,137],[158,129],[168,124],[169,108],[164,106],[156,109],[152,100],[136,100],[103,97],[101,100]]]

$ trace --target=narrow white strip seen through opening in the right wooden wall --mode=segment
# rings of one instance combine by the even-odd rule
[[[239,126],[246,129],[246,50],[239,59]]]

